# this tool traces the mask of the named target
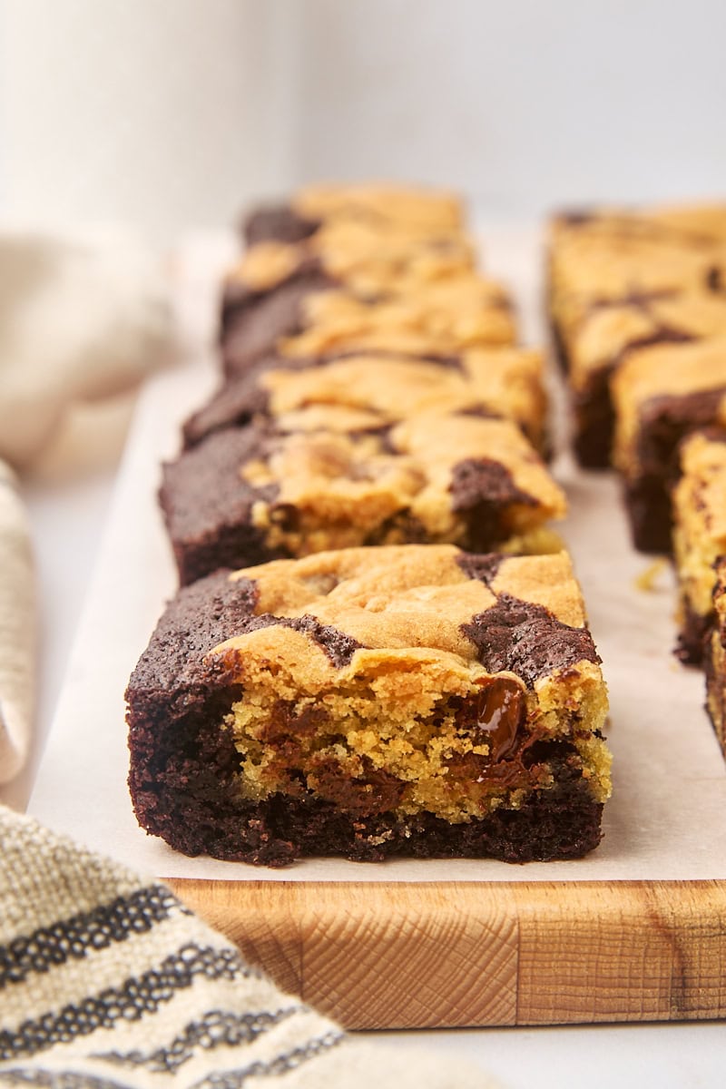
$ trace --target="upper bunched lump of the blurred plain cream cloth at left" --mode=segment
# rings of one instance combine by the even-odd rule
[[[167,278],[146,247],[0,235],[0,457],[29,465],[70,407],[136,386],[170,337]]]

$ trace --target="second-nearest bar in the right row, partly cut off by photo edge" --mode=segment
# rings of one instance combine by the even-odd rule
[[[678,657],[700,664],[714,621],[714,564],[726,554],[726,431],[697,431],[680,448],[673,493],[678,572]]]

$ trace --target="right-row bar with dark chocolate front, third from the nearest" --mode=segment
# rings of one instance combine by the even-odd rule
[[[670,490],[678,444],[691,431],[726,424],[726,338],[643,348],[616,371],[614,460],[636,548],[672,549]]]

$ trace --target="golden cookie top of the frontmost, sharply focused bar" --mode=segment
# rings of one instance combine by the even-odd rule
[[[210,653],[273,654],[293,675],[306,672],[308,683],[310,671],[323,684],[333,670],[369,665],[371,654],[379,669],[386,656],[411,668],[439,662],[466,671],[479,663],[530,686],[598,661],[564,552],[504,558],[471,556],[452,546],[345,549],[247,567],[231,578],[251,587],[254,616],[270,622],[253,622]],[[339,652],[329,647],[325,653],[333,634]]]

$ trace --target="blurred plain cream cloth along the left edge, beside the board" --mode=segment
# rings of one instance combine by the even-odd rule
[[[69,409],[133,388],[168,355],[171,307],[158,259],[104,242],[0,234],[0,783],[27,756],[35,591],[15,477]]]

